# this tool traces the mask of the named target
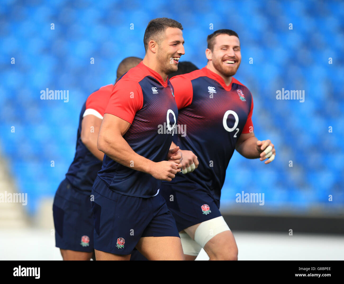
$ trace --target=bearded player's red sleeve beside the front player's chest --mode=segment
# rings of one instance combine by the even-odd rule
[[[170,79],[174,90],[174,98],[178,109],[191,105],[192,102],[192,84],[191,80],[183,75],[174,76]]]

